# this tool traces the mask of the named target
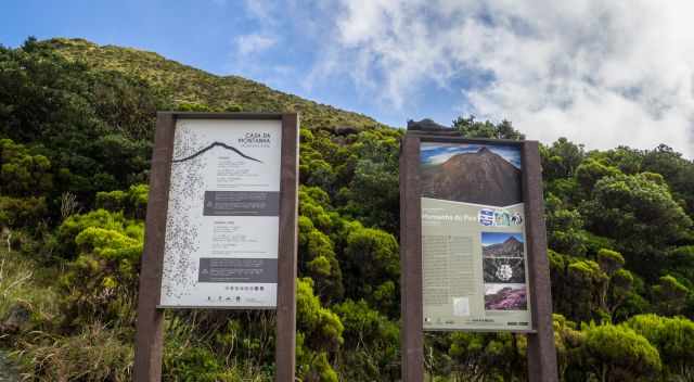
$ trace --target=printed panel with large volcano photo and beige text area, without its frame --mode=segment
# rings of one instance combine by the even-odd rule
[[[424,330],[531,330],[520,147],[421,142]]]

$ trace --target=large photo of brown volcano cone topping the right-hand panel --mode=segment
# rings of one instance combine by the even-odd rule
[[[523,202],[517,147],[424,142],[420,153],[424,198],[492,206]]]

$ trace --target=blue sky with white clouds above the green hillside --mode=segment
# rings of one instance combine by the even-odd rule
[[[694,157],[691,0],[3,0],[0,43],[81,37],[360,112],[461,115]]]

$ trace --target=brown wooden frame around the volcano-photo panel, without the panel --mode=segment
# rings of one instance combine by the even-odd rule
[[[526,219],[527,260],[532,330],[515,331],[528,335],[528,377],[530,381],[558,380],[552,327],[552,294],[542,175],[537,141],[467,139],[451,131],[410,130],[400,145],[400,266],[402,381],[424,381],[424,335],[422,300],[422,206],[420,189],[421,142],[506,144],[520,148],[522,192]]]

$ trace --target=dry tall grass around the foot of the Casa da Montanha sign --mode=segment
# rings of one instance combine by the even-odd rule
[[[115,320],[62,327],[60,273],[60,265],[47,267],[0,249],[0,348],[25,381],[131,381],[134,302],[121,302]],[[28,313],[28,319],[2,332],[2,323],[17,309]],[[270,381],[271,366],[261,362],[271,351],[266,347],[273,342],[274,321],[264,315],[254,321],[267,335],[248,336],[237,321],[220,313],[167,311],[163,380]]]

